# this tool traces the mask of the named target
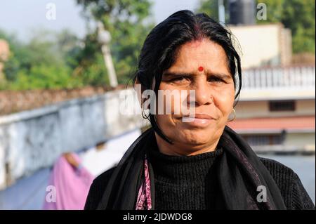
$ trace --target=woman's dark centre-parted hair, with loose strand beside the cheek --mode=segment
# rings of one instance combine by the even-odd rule
[[[209,39],[225,50],[228,69],[235,85],[235,99],[237,99],[242,87],[242,70],[239,55],[232,43],[232,34],[205,13],[195,15],[187,10],[173,13],[147,35],[140,51],[133,84],[135,85],[137,79],[142,89],[154,88],[154,92],[157,93],[162,81],[162,73],[176,61],[179,46],[201,39]],[[154,114],[150,113],[147,118],[154,131],[168,143],[172,143],[159,129]]]

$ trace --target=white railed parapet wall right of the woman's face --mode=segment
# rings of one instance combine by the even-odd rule
[[[315,100],[315,65],[242,72],[241,101],[307,99]]]

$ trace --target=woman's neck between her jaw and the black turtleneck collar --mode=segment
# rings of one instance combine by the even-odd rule
[[[205,152],[213,152],[216,150],[219,139],[213,141],[212,143],[203,144],[203,145],[190,145],[187,143],[174,142],[173,145],[167,143],[162,139],[157,133],[154,133],[157,140],[157,145],[159,151],[163,154],[169,155],[186,155],[192,156],[197,154],[202,154]]]

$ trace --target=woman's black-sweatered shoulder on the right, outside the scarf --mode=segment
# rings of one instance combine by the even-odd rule
[[[273,159],[259,157],[279,187],[287,209],[315,209],[298,175],[288,166]]]

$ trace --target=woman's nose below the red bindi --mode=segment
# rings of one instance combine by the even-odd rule
[[[211,88],[204,78],[195,81],[193,89],[195,90],[195,106],[211,105],[213,103],[213,96]],[[192,103],[192,101],[191,101]]]

